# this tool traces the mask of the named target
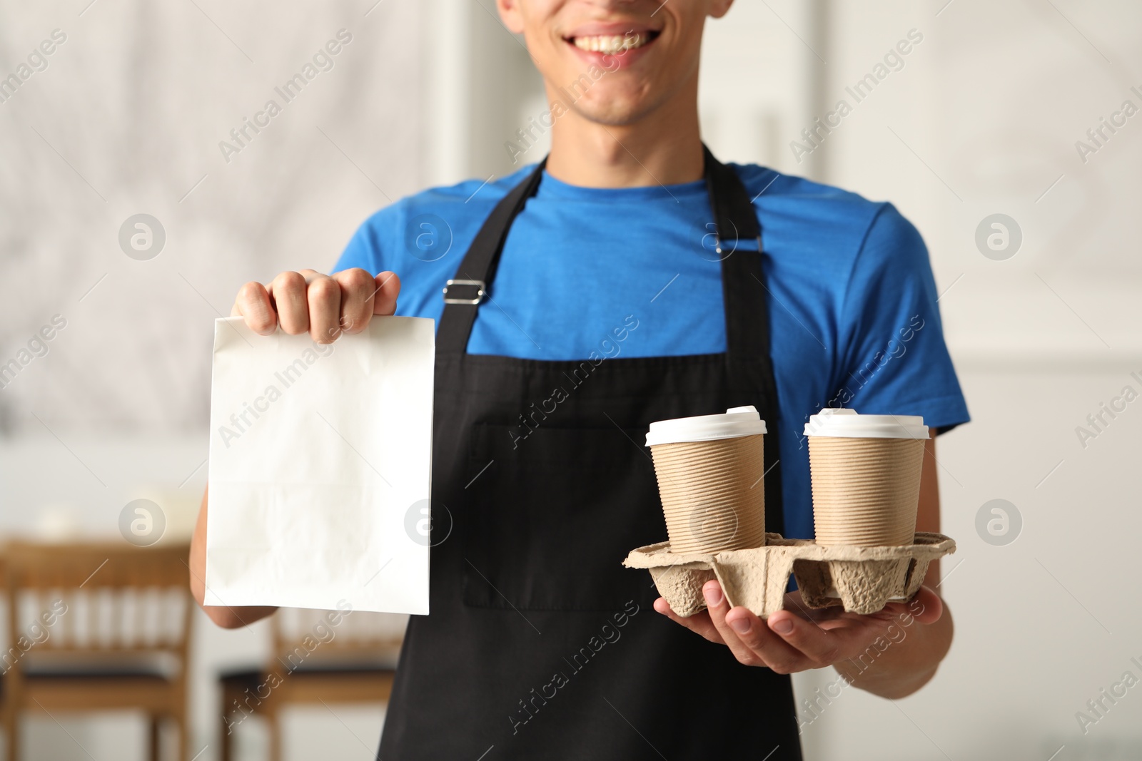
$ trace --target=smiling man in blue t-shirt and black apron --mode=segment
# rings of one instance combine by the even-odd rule
[[[360,228],[336,274],[238,296],[258,333],[323,343],[376,315],[439,321],[433,517],[453,525],[379,758],[798,759],[787,674],[834,665],[896,698],[948,651],[934,566],[907,606],[811,620],[791,592],[767,621],[730,609],[714,581],[708,610],[682,618],[620,566],[665,539],[650,422],[757,406],[767,529],[812,537],[809,414],[967,420],[911,225],[705,152],[701,33],[731,3],[498,0],[552,103],[546,165],[404,199]],[[939,531],[934,462],[930,442],[919,531]],[[223,626],[272,613],[206,610]]]

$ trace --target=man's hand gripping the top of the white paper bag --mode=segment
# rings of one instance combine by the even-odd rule
[[[323,275],[315,269],[286,272],[267,285],[250,282],[234,299],[234,316],[255,333],[270,335],[278,325],[290,335],[308,331],[316,343],[332,343],[341,333],[360,333],[373,315],[396,311],[401,278],[376,277],[364,269]]]

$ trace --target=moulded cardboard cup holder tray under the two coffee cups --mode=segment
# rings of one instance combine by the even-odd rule
[[[622,565],[649,569],[679,616],[706,607],[702,584],[716,578],[731,606],[767,618],[785,606],[790,573],[809,607],[843,605],[849,613],[869,614],[892,600],[911,599],[928,564],[955,551],[948,536],[923,532],[902,547],[819,547],[766,534],[763,547],[713,554],[674,554],[669,542],[659,542],[633,550]]]

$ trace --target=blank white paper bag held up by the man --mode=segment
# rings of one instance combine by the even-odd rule
[[[207,605],[428,613],[434,324],[215,321]]]

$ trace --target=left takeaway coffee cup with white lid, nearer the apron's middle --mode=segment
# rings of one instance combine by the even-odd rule
[[[754,407],[651,423],[646,446],[671,552],[765,544],[764,434]]]

